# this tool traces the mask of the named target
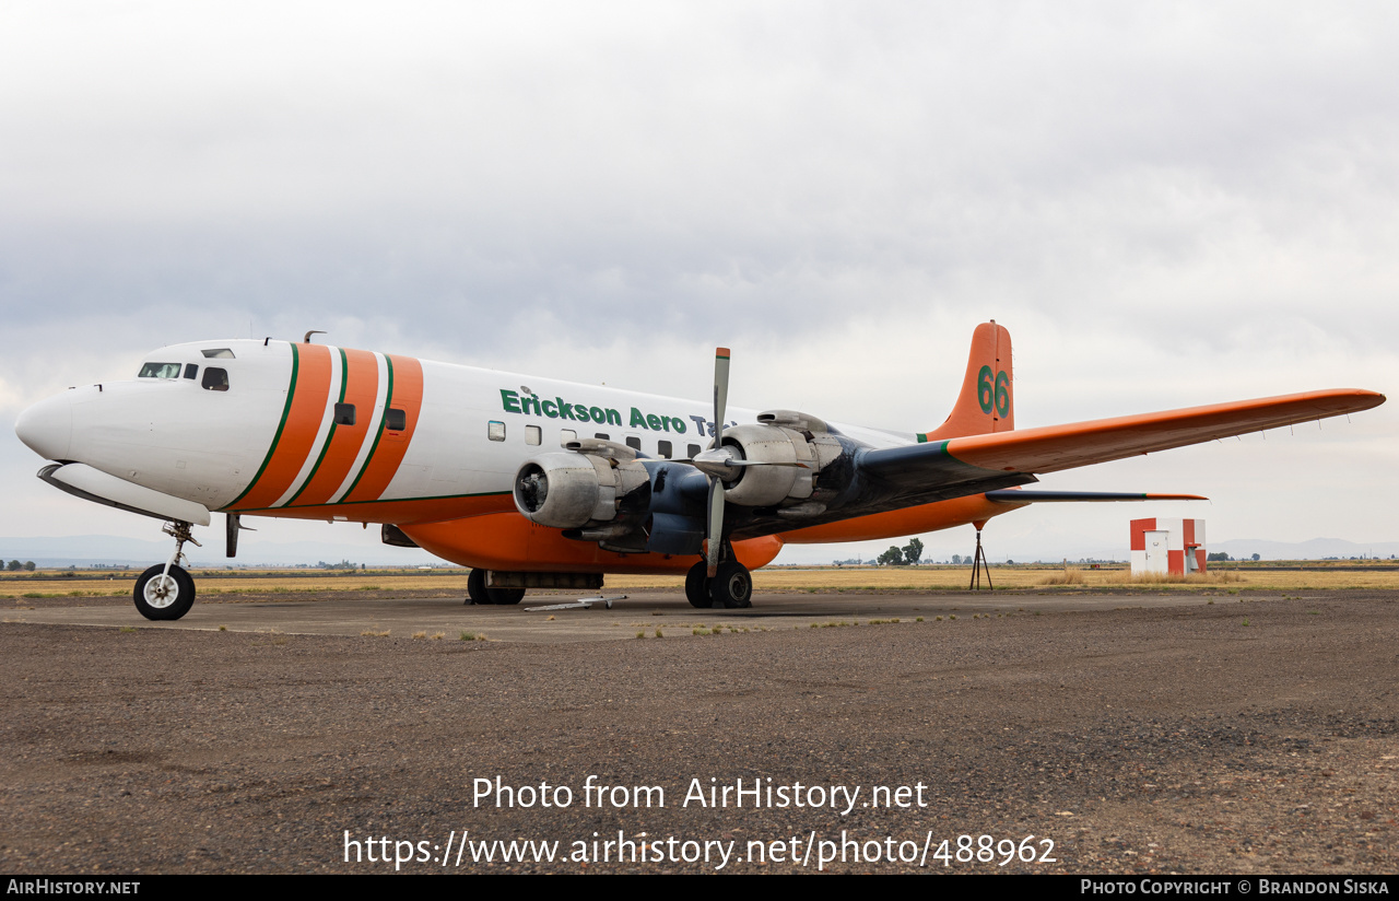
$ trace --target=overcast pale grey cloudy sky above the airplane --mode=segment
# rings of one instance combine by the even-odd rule
[[[992,318],[1021,427],[1395,395],[1396,46],[1392,3],[6,3],[0,536],[157,537],[13,423],[208,337],[694,397],[723,344],[734,404],[904,431]],[[1213,504],[988,543],[1396,540],[1396,463],[1391,402],[1056,474]]]

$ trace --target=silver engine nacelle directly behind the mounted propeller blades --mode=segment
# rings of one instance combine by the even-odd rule
[[[734,448],[744,460],[779,466],[740,467],[737,480],[725,483],[725,499],[743,506],[806,501],[811,497],[814,476],[841,456],[841,444],[827,432],[823,420],[795,410],[761,413],[758,423],[723,430],[723,446]]]

